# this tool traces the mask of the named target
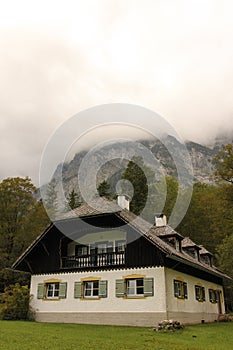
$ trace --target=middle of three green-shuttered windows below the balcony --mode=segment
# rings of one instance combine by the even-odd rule
[[[102,280],[75,282],[74,298],[107,298],[108,283]]]

